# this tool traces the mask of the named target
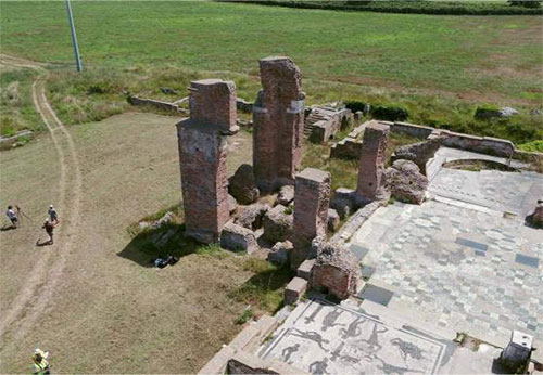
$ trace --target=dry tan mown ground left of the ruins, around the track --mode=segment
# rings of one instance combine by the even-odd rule
[[[244,303],[228,293],[253,275],[243,258],[191,254],[157,270],[119,255],[131,223],[180,199],[177,120],[130,113],[70,128],[83,178],[78,231],[70,238],[76,246],[31,334],[3,338],[0,372],[28,371],[39,346],[58,373],[193,373],[241,329],[235,321]],[[250,160],[250,138],[229,138],[231,171]],[[59,196],[56,161],[46,135],[0,153],[2,206],[16,202],[35,222],[45,219]],[[35,246],[40,231],[24,222],[0,232],[2,312],[52,250]]]

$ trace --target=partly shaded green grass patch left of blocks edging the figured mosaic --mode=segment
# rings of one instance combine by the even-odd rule
[[[283,307],[283,290],[294,273],[288,266],[278,268],[266,260],[249,258],[243,268],[255,274],[242,285],[233,288],[228,297],[238,302],[257,307],[275,313]]]

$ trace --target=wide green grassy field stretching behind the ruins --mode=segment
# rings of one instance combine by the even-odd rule
[[[543,98],[539,16],[216,2],[80,1],[73,9],[86,72],[76,75],[73,67],[54,64],[49,86],[67,124],[126,111],[125,91],[168,99],[160,91],[167,86],[185,95],[187,82],[198,77],[233,79],[239,95],[253,100],[260,88],[257,59],[286,54],[302,69],[308,103],[400,104],[414,122],[519,144],[543,139],[541,117],[529,114]],[[3,2],[1,10],[3,53],[72,63],[63,3]],[[521,114],[505,121],[475,120],[476,107],[485,103]]]

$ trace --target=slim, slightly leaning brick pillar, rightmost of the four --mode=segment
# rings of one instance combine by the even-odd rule
[[[364,130],[356,194],[375,199],[381,188],[390,127],[370,121]]]

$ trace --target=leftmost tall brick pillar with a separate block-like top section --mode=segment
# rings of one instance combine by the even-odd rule
[[[189,90],[190,118],[177,124],[186,235],[212,243],[229,219],[226,133],[236,125],[236,86],[202,79]]]

